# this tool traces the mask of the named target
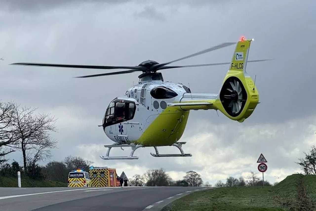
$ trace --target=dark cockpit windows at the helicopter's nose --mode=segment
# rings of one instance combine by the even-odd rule
[[[130,120],[135,114],[135,103],[127,100],[114,99],[103,118],[103,126],[113,125],[119,122]]]

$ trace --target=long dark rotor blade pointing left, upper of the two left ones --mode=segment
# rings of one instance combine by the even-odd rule
[[[66,65],[66,64],[45,64],[45,63],[12,63],[11,65],[30,65],[30,66],[48,66],[48,67],[72,67],[72,68],[88,68],[88,69],[132,69],[142,71],[139,66],[94,66],[94,65]]]

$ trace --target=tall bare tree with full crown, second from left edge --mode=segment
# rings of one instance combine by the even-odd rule
[[[22,151],[24,171],[27,172],[28,150],[34,150],[33,161],[40,161],[48,156],[48,149],[56,147],[56,140],[50,137],[49,132],[56,132],[56,119],[50,114],[38,114],[34,112],[37,108],[21,107],[14,104],[14,126],[15,138],[18,144],[14,147]],[[37,152],[36,152],[37,150]]]

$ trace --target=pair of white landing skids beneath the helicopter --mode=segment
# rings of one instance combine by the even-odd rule
[[[181,154],[159,154],[158,149],[156,146],[154,146],[156,154],[150,153],[153,157],[191,157],[192,154],[185,154],[184,151],[182,150],[182,145],[185,144],[186,142],[176,142],[174,144],[171,144],[170,146],[175,146],[177,147]],[[132,159],[138,159],[137,156],[133,156],[135,150],[141,147],[149,147],[149,146],[143,146],[142,144],[120,144],[120,143],[114,143],[112,145],[104,145],[105,148],[108,148],[106,151],[106,155],[102,156],[100,155],[100,158],[103,160],[132,160]],[[131,147],[131,153],[130,156],[127,157],[109,157],[110,150],[112,147],[121,147],[122,150],[124,150],[122,147]]]

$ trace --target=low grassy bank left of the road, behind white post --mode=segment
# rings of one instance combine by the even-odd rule
[[[0,176],[0,187],[18,187],[17,178]],[[67,183],[21,178],[21,187],[67,187]]]

